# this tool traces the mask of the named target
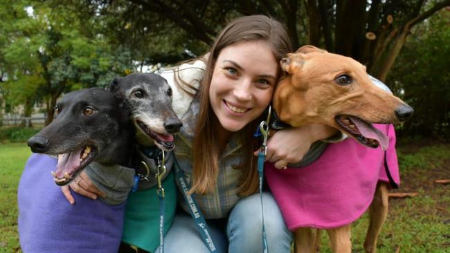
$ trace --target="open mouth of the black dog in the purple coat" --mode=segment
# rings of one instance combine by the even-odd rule
[[[97,149],[91,146],[58,156],[56,172],[52,171],[57,185],[67,185],[96,156]]]

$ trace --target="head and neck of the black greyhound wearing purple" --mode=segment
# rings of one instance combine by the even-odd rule
[[[55,119],[28,140],[34,153],[59,155],[53,172],[66,185],[90,162],[127,165],[134,127],[123,102],[109,91],[89,88],[64,95]]]

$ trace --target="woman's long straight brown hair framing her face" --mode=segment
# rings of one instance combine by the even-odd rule
[[[190,192],[205,194],[215,188],[217,176],[219,174],[219,139],[217,124],[218,119],[210,106],[209,88],[213,77],[213,70],[219,53],[222,49],[233,44],[244,41],[264,41],[266,42],[277,61],[287,53],[291,52],[289,36],[284,26],[270,17],[263,15],[253,15],[237,18],[231,21],[219,34],[215,43],[211,47],[206,71],[201,82],[199,91],[199,117],[195,127],[195,136],[192,155],[194,157],[192,168],[192,189]],[[280,69],[278,69],[280,75]],[[258,173],[255,166],[253,151],[258,149],[258,140],[253,138],[258,123],[262,120],[262,115],[247,124],[239,131],[243,144],[244,160],[235,169],[241,170],[238,192],[242,196],[248,196],[258,190]]]

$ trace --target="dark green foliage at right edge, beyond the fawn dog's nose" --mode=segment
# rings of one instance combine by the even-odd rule
[[[450,140],[450,12],[417,26],[399,55],[388,83],[413,106],[403,135]]]

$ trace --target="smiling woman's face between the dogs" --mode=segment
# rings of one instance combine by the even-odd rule
[[[217,57],[209,88],[210,104],[222,127],[239,131],[271,101],[278,62],[264,41],[227,46]]]

